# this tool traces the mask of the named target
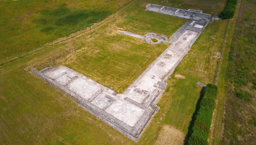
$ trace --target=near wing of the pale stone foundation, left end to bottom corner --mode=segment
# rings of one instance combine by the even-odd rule
[[[114,96],[113,90],[64,66],[33,70],[33,73],[73,96],[75,102],[134,141],[138,141],[138,136],[158,109]]]

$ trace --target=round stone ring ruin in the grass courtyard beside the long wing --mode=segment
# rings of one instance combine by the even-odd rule
[[[155,33],[147,33],[144,37],[145,41],[150,44],[160,44],[167,41],[167,37]]]

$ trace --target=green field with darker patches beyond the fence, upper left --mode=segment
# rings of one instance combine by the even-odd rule
[[[0,63],[103,20],[132,0],[1,0]]]

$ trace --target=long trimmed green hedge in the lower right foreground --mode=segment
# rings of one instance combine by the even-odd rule
[[[188,137],[188,145],[207,145],[209,129],[212,123],[212,113],[215,107],[215,99],[218,88],[214,84],[207,84],[198,106],[198,112],[195,113],[195,120],[192,125],[192,131]]]

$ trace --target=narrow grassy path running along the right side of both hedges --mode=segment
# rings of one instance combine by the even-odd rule
[[[212,116],[212,127],[209,134],[210,145],[220,144],[223,136],[225,98],[226,98],[225,96],[227,95],[226,94],[227,81],[225,80],[225,76],[227,71],[230,45],[232,42],[234,29],[236,26],[236,18],[238,17],[238,14],[239,14],[240,3],[241,3],[241,0],[238,0],[237,6],[236,6],[236,14],[232,19],[230,19],[229,29],[227,31],[227,38],[226,38],[226,41],[224,42],[224,51],[222,54],[222,60],[220,62],[221,65],[220,65],[219,75],[217,79],[218,96],[216,99],[215,110]]]

